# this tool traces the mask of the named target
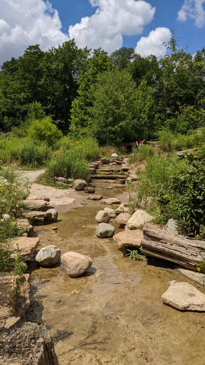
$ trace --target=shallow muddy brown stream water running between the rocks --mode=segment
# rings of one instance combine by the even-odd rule
[[[127,201],[125,189],[93,183],[97,194]],[[131,261],[115,242],[97,238],[95,215],[105,205],[88,202],[60,214],[55,224],[34,227],[39,248],[54,244],[62,254],[77,251],[93,260],[78,278],[70,278],[60,264],[46,269],[30,262],[28,320],[49,328],[59,364],[204,365],[204,314],[177,311],[161,301],[170,280],[190,281],[174,264]],[[121,231],[114,218],[109,223]]]

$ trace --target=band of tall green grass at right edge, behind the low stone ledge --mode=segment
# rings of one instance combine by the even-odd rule
[[[204,142],[205,128],[201,128],[200,132],[192,135],[173,134],[170,131],[159,132],[159,147],[164,152],[197,147]]]

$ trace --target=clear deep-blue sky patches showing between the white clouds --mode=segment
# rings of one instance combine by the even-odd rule
[[[126,0],[124,1],[126,2]],[[70,25],[80,23],[82,17],[91,16],[96,11],[96,8],[93,8],[88,0],[53,0],[51,2],[59,12],[59,18],[65,32],[68,31]],[[204,27],[198,28],[194,25],[193,19],[189,18],[185,22],[177,20],[177,13],[184,3],[183,0],[151,0],[148,3],[156,7],[154,19],[144,27],[142,34],[124,35],[123,46],[135,48],[139,39],[142,36],[146,37],[156,27],[167,27],[174,30],[176,37],[179,37],[179,45],[181,47],[188,45],[188,51],[191,54],[205,46],[205,24]]]

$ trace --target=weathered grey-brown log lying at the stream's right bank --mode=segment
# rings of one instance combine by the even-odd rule
[[[146,256],[159,257],[192,270],[205,260],[205,242],[173,235],[149,224],[143,229],[141,245]]]

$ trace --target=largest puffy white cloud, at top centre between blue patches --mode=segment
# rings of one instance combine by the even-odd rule
[[[95,14],[69,27],[70,38],[79,47],[88,46],[111,54],[123,45],[123,35],[141,34],[151,22],[155,7],[143,0],[89,0]]]

